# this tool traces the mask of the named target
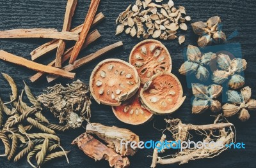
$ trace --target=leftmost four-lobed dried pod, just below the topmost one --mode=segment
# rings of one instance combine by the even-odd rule
[[[195,74],[198,80],[207,81],[210,73],[205,66],[209,66],[216,57],[216,54],[212,52],[202,55],[198,47],[189,45],[187,50],[188,60],[182,64],[179,73],[184,75]]]

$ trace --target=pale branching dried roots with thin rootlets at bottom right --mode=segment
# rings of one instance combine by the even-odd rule
[[[157,164],[186,164],[189,160],[216,157],[220,155],[221,152],[228,149],[228,146],[225,146],[226,144],[234,143],[236,141],[234,125],[228,123],[221,115],[216,117],[214,123],[208,125],[184,124],[179,119],[166,120],[166,123],[168,123],[166,130],[172,132],[173,141],[188,141],[192,137],[190,136],[191,131],[195,131],[196,134],[204,136],[202,142],[209,143],[209,148],[186,148],[175,155],[168,155],[165,157],[159,157],[157,148],[155,148],[151,167],[156,167]],[[162,143],[166,141],[166,136],[164,134],[160,141]],[[212,148],[210,146],[210,142],[212,141],[223,144],[223,147]],[[166,148],[161,152],[164,152],[165,150]]]

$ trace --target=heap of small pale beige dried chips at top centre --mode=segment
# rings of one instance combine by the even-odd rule
[[[172,0],[163,4],[161,2],[136,0],[133,6],[128,6],[116,19],[116,24],[118,24],[116,34],[125,31],[126,34],[132,37],[137,36],[137,38],[143,36],[147,39],[152,36],[164,40],[176,39],[177,30],[186,31],[188,26],[185,22],[190,21],[191,18],[186,16],[184,6],[175,8]],[[184,40],[185,36],[179,36],[180,44]]]

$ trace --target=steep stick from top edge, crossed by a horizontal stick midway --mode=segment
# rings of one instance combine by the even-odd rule
[[[72,17],[76,10],[76,4],[77,0],[68,0],[62,31],[70,31]],[[65,51],[65,46],[65,41],[60,39],[56,53],[55,67],[61,67],[61,57]]]

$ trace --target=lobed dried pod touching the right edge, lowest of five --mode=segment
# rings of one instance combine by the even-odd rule
[[[250,118],[249,111],[256,111],[256,100],[251,99],[252,89],[244,87],[241,92],[235,90],[228,90],[228,102],[222,106],[223,115],[230,117],[238,114],[238,118],[242,122],[246,122]]]

